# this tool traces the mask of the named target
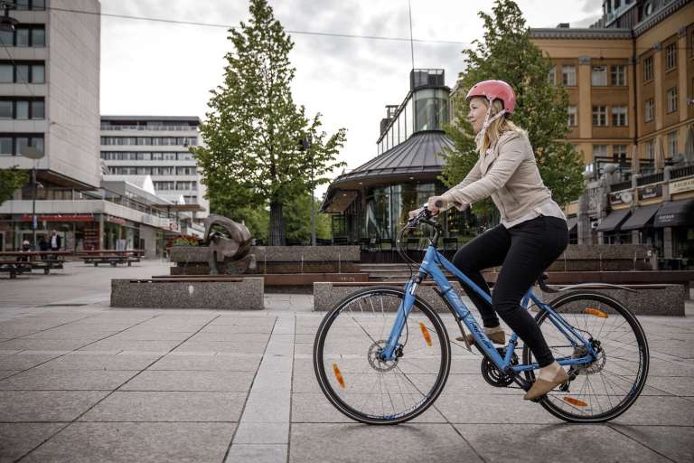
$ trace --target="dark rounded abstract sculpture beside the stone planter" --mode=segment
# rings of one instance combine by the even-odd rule
[[[203,245],[210,249],[210,275],[236,275],[255,270],[256,256],[249,255],[250,242],[246,225],[220,215],[207,217]]]

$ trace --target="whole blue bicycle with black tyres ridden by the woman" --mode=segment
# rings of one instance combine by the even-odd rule
[[[451,287],[449,270],[491,303],[473,281],[436,250],[439,224],[425,210],[399,233],[427,224],[433,229],[424,260],[405,288],[365,288],[344,298],[324,317],[314,341],[314,371],[325,396],[352,420],[398,424],[426,411],[443,391],[451,365],[451,342],[436,310],[417,288],[431,278],[455,317],[465,347],[465,328],[482,353],[481,373],[495,387],[530,389],[539,365],[512,334],[495,346]],[[431,230],[430,229],[430,230]],[[537,311],[536,321],[569,380],[539,399],[562,420],[601,422],[624,413],[642,392],[649,351],[642,326],[614,298],[575,285],[562,290],[539,285],[558,297],[542,302],[532,288],[521,304]],[[600,285],[599,288],[616,287]],[[624,287],[618,287],[624,288]],[[454,327],[454,326],[452,326]],[[455,329],[456,329],[455,328]],[[516,351],[521,349],[521,358]]]

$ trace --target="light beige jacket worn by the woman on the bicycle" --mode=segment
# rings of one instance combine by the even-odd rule
[[[504,132],[463,182],[441,195],[447,203],[444,208],[454,205],[461,211],[489,196],[502,214],[502,222],[513,222],[551,200],[525,134]]]

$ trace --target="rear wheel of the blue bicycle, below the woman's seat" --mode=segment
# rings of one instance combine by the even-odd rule
[[[590,291],[569,293],[549,306],[590,340],[598,355],[591,364],[570,367],[569,383],[549,392],[540,404],[562,420],[613,420],[633,405],[646,383],[650,356],[641,324],[614,298]],[[585,348],[568,342],[551,323],[547,312],[541,311],[536,320],[555,358],[586,354]],[[523,363],[533,362],[526,345]],[[534,381],[535,374],[527,372],[526,377]]]

